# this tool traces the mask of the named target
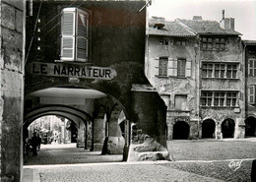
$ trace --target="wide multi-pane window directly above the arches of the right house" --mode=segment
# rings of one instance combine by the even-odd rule
[[[201,91],[202,106],[237,106],[238,91]]]

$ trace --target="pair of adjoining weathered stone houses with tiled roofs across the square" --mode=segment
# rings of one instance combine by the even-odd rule
[[[234,20],[149,20],[146,75],[167,106],[167,139],[243,138],[244,62]]]

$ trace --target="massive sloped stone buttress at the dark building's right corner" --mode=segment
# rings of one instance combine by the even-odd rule
[[[131,145],[127,161],[169,159],[166,149],[166,106],[157,91],[134,88]]]

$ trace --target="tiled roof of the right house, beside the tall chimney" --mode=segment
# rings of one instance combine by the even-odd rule
[[[198,34],[226,34],[226,35],[241,35],[235,30],[224,30],[220,27],[220,23],[216,21],[192,21],[177,19],[181,25]]]

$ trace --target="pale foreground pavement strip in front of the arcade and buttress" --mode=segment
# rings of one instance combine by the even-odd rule
[[[41,182],[221,182],[156,163],[104,163],[34,166]]]

